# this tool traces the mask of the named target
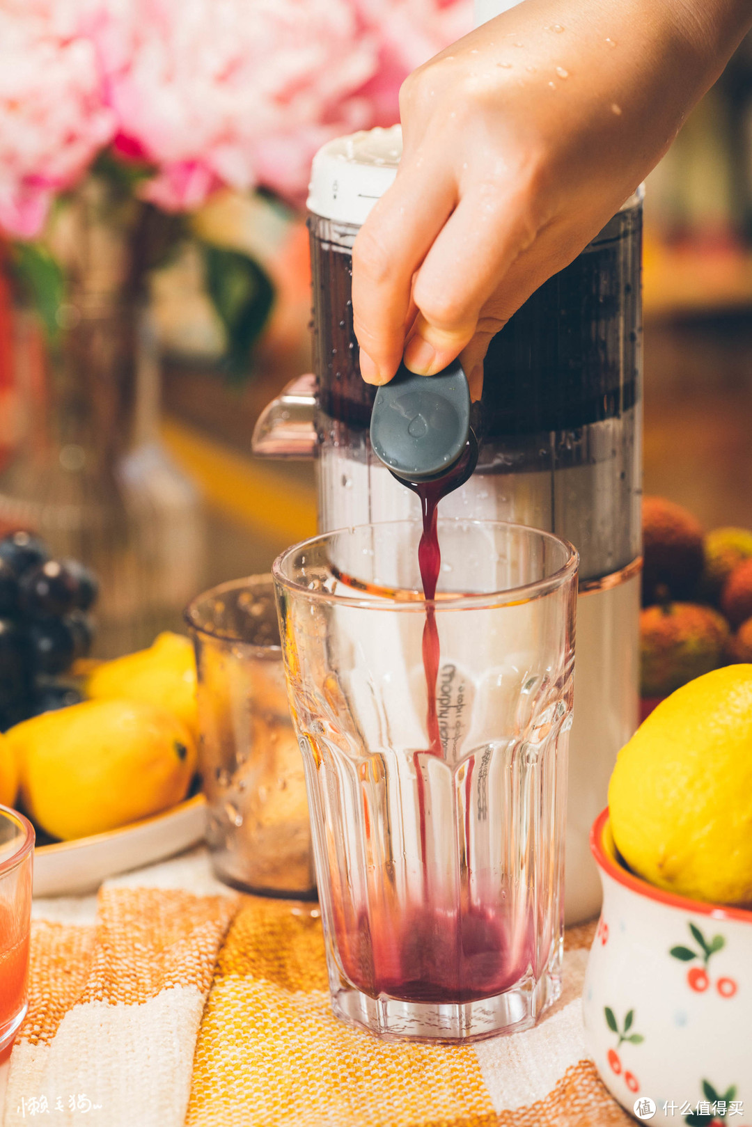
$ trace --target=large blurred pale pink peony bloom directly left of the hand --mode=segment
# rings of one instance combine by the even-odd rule
[[[395,121],[406,74],[469,24],[469,0],[121,0],[94,34],[118,143],[178,210],[219,184],[300,199],[316,149]]]

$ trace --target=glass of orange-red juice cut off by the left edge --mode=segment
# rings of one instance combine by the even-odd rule
[[[34,826],[0,806],[0,1051],[26,1014],[33,858]]]

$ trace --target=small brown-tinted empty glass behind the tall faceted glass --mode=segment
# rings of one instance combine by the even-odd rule
[[[303,765],[271,575],[186,610],[198,672],[198,769],[215,875],[242,891],[316,897]]]

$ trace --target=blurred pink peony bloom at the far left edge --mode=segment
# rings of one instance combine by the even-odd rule
[[[115,132],[83,7],[0,0],[0,228],[29,239]]]

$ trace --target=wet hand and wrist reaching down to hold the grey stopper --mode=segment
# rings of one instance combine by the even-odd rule
[[[525,0],[400,91],[404,154],[353,249],[361,373],[490,338],[657,163],[747,27],[749,0]]]

